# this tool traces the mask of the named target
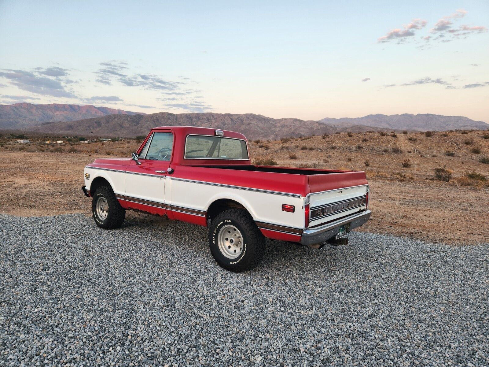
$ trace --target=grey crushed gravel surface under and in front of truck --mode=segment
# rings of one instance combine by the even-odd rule
[[[0,216],[0,366],[488,366],[489,244],[351,233],[219,268],[206,229]]]

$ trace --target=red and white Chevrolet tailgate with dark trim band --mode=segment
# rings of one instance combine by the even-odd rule
[[[365,172],[338,172],[310,178],[309,228],[353,215],[367,208]]]

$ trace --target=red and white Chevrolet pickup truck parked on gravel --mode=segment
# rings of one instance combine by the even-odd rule
[[[265,237],[314,248],[335,243],[370,217],[365,172],[252,165],[244,135],[187,126],[151,130],[132,158],[85,167],[100,228],[126,210],[209,228],[217,263],[234,272],[255,266]]]

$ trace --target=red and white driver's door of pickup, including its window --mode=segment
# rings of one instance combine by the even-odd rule
[[[165,215],[165,176],[173,153],[173,133],[154,132],[126,169],[127,205],[133,209]]]

